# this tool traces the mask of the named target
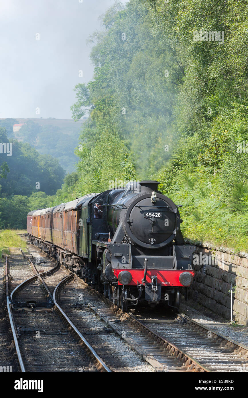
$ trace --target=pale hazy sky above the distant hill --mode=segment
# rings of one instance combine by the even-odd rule
[[[73,88],[94,71],[86,40],[114,2],[0,0],[0,118],[71,118]]]

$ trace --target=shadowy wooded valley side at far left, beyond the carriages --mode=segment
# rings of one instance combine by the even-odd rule
[[[6,128],[0,127],[0,141],[9,142]],[[12,140],[12,156],[2,153],[1,161],[0,228],[26,228],[30,210],[53,203],[53,196],[47,194],[55,194],[61,187],[64,170],[58,160],[16,140]]]

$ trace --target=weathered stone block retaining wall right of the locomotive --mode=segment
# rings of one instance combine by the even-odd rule
[[[188,243],[193,244],[191,241]],[[189,297],[230,319],[232,284],[233,320],[248,325],[248,254],[234,255],[231,250],[214,249],[208,244],[197,245],[196,253],[209,257],[206,259],[205,256],[205,260],[203,257],[203,261],[195,258],[195,278],[189,289]]]

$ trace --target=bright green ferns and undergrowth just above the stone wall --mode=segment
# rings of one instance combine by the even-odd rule
[[[248,253],[248,203],[246,194],[238,196],[239,187],[223,193],[220,177],[195,169],[186,176],[178,173],[172,186],[168,185],[169,178],[160,190],[174,203],[183,205],[179,211],[186,239]]]

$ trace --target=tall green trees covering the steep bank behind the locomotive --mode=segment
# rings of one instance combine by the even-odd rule
[[[187,237],[248,250],[247,152],[237,150],[248,142],[247,16],[244,0],[109,9],[91,38],[94,80],[76,86],[72,106],[75,119],[90,112],[78,191],[106,189],[128,162],[128,176],[158,178],[183,204]],[[223,31],[224,43],[193,41],[199,29]]]

